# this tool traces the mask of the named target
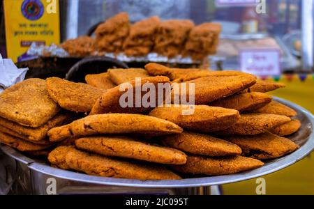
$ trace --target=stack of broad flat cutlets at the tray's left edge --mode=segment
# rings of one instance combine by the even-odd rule
[[[33,155],[47,153],[53,127],[73,121],[47,93],[45,80],[27,79],[0,95],[0,142]]]

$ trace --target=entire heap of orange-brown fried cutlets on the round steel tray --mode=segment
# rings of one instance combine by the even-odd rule
[[[59,169],[139,180],[239,173],[299,148],[285,138],[301,127],[293,119],[297,112],[267,94],[283,88],[280,83],[239,71],[156,63],[85,79],[87,84],[27,79],[3,91],[0,142],[46,156]],[[150,84],[158,92],[158,84],[174,83],[193,84],[195,105],[172,100],[156,108],[121,107],[121,86]],[[189,98],[190,91],[181,90],[172,89],[172,99],[177,92]],[[140,100],[145,96],[133,93]],[[182,114],[187,106],[193,114]]]

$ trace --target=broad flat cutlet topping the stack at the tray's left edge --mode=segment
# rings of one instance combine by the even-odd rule
[[[60,110],[43,79],[27,79],[0,94],[0,116],[29,127],[40,127]]]

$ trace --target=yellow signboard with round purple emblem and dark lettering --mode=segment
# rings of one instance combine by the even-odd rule
[[[59,0],[4,0],[8,58],[17,58],[29,46],[59,44]]]

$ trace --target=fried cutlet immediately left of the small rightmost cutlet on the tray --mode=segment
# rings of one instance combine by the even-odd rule
[[[243,114],[232,127],[216,132],[219,136],[257,135],[291,121],[287,116],[275,114]]]

